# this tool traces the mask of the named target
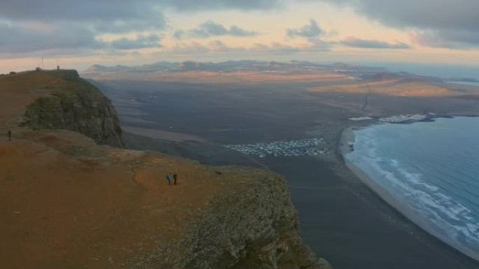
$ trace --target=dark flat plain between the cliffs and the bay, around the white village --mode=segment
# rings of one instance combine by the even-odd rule
[[[479,99],[474,94],[366,96],[364,85],[357,85],[362,87],[357,92],[328,92],[311,91],[308,83],[95,83],[113,100],[123,126],[136,130],[125,133],[130,147],[209,164],[262,167],[285,175],[303,239],[336,269],[479,268],[477,261],[433,238],[382,201],[346,168],[337,151],[343,129],[371,124],[352,122],[349,117],[426,112],[478,115]],[[151,130],[182,133],[186,139],[155,137]],[[188,140],[186,135],[202,141]],[[312,137],[324,138],[336,153],[259,158],[223,147]]]

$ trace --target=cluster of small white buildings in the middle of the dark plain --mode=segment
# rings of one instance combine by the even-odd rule
[[[330,154],[323,138],[312,138],[303,140],[277,141],[271,143],[256,143],[244,145],[226,145],[231,150],[237,150],[244,154],[266,156],[313,156]]]

